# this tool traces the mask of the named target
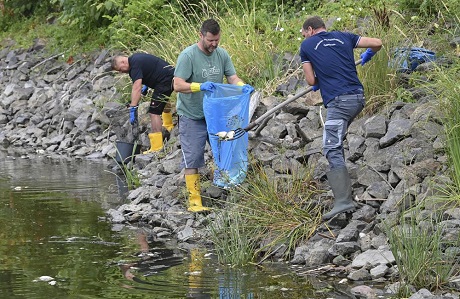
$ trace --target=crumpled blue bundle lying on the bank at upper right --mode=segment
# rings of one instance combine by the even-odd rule
[[[398,72],[411,73],[420,64],[435,60],[435,52],[424,48],[396,48],[390,66],[396,68]]]

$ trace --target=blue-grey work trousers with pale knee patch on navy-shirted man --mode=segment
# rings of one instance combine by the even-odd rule
[[[348,126],[363,110],[364,94],[346,94],[327,104],[327,116],[323,132],[323,154],[331,169],[346,167],[343,140]]]

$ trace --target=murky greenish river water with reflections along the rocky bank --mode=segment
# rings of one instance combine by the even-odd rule
[[[118,186],[108,162],[0,151],[0,298],[331,297],[282,263],[235,269],[111,224]]]

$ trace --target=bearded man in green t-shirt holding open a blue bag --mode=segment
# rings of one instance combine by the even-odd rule
[[[189,192],[191,212],[206,211],[202,206],[198,168],[205,165],[204,150],[208,133],[203,112],[203,91],[212,91],[215,83],[244,85],[236,75],[230,55],[219,48],[220,26],[209,19],[203,22],[200,40],[180,53],[174,72],[176,110],[179,115],[179,134],[182,149],[182,167]],[[253,88],[247,85],[247,88]]]

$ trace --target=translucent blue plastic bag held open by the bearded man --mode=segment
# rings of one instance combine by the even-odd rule
[[[249,124],[250,93],[242,86],[214,83],[213,92],[205,92],[203,110],[209,143],[214,157],[213,183],[222,188],[241,184],[248,168],[248,134],[233,140],[222,140],[215,134],[245,128]]]

